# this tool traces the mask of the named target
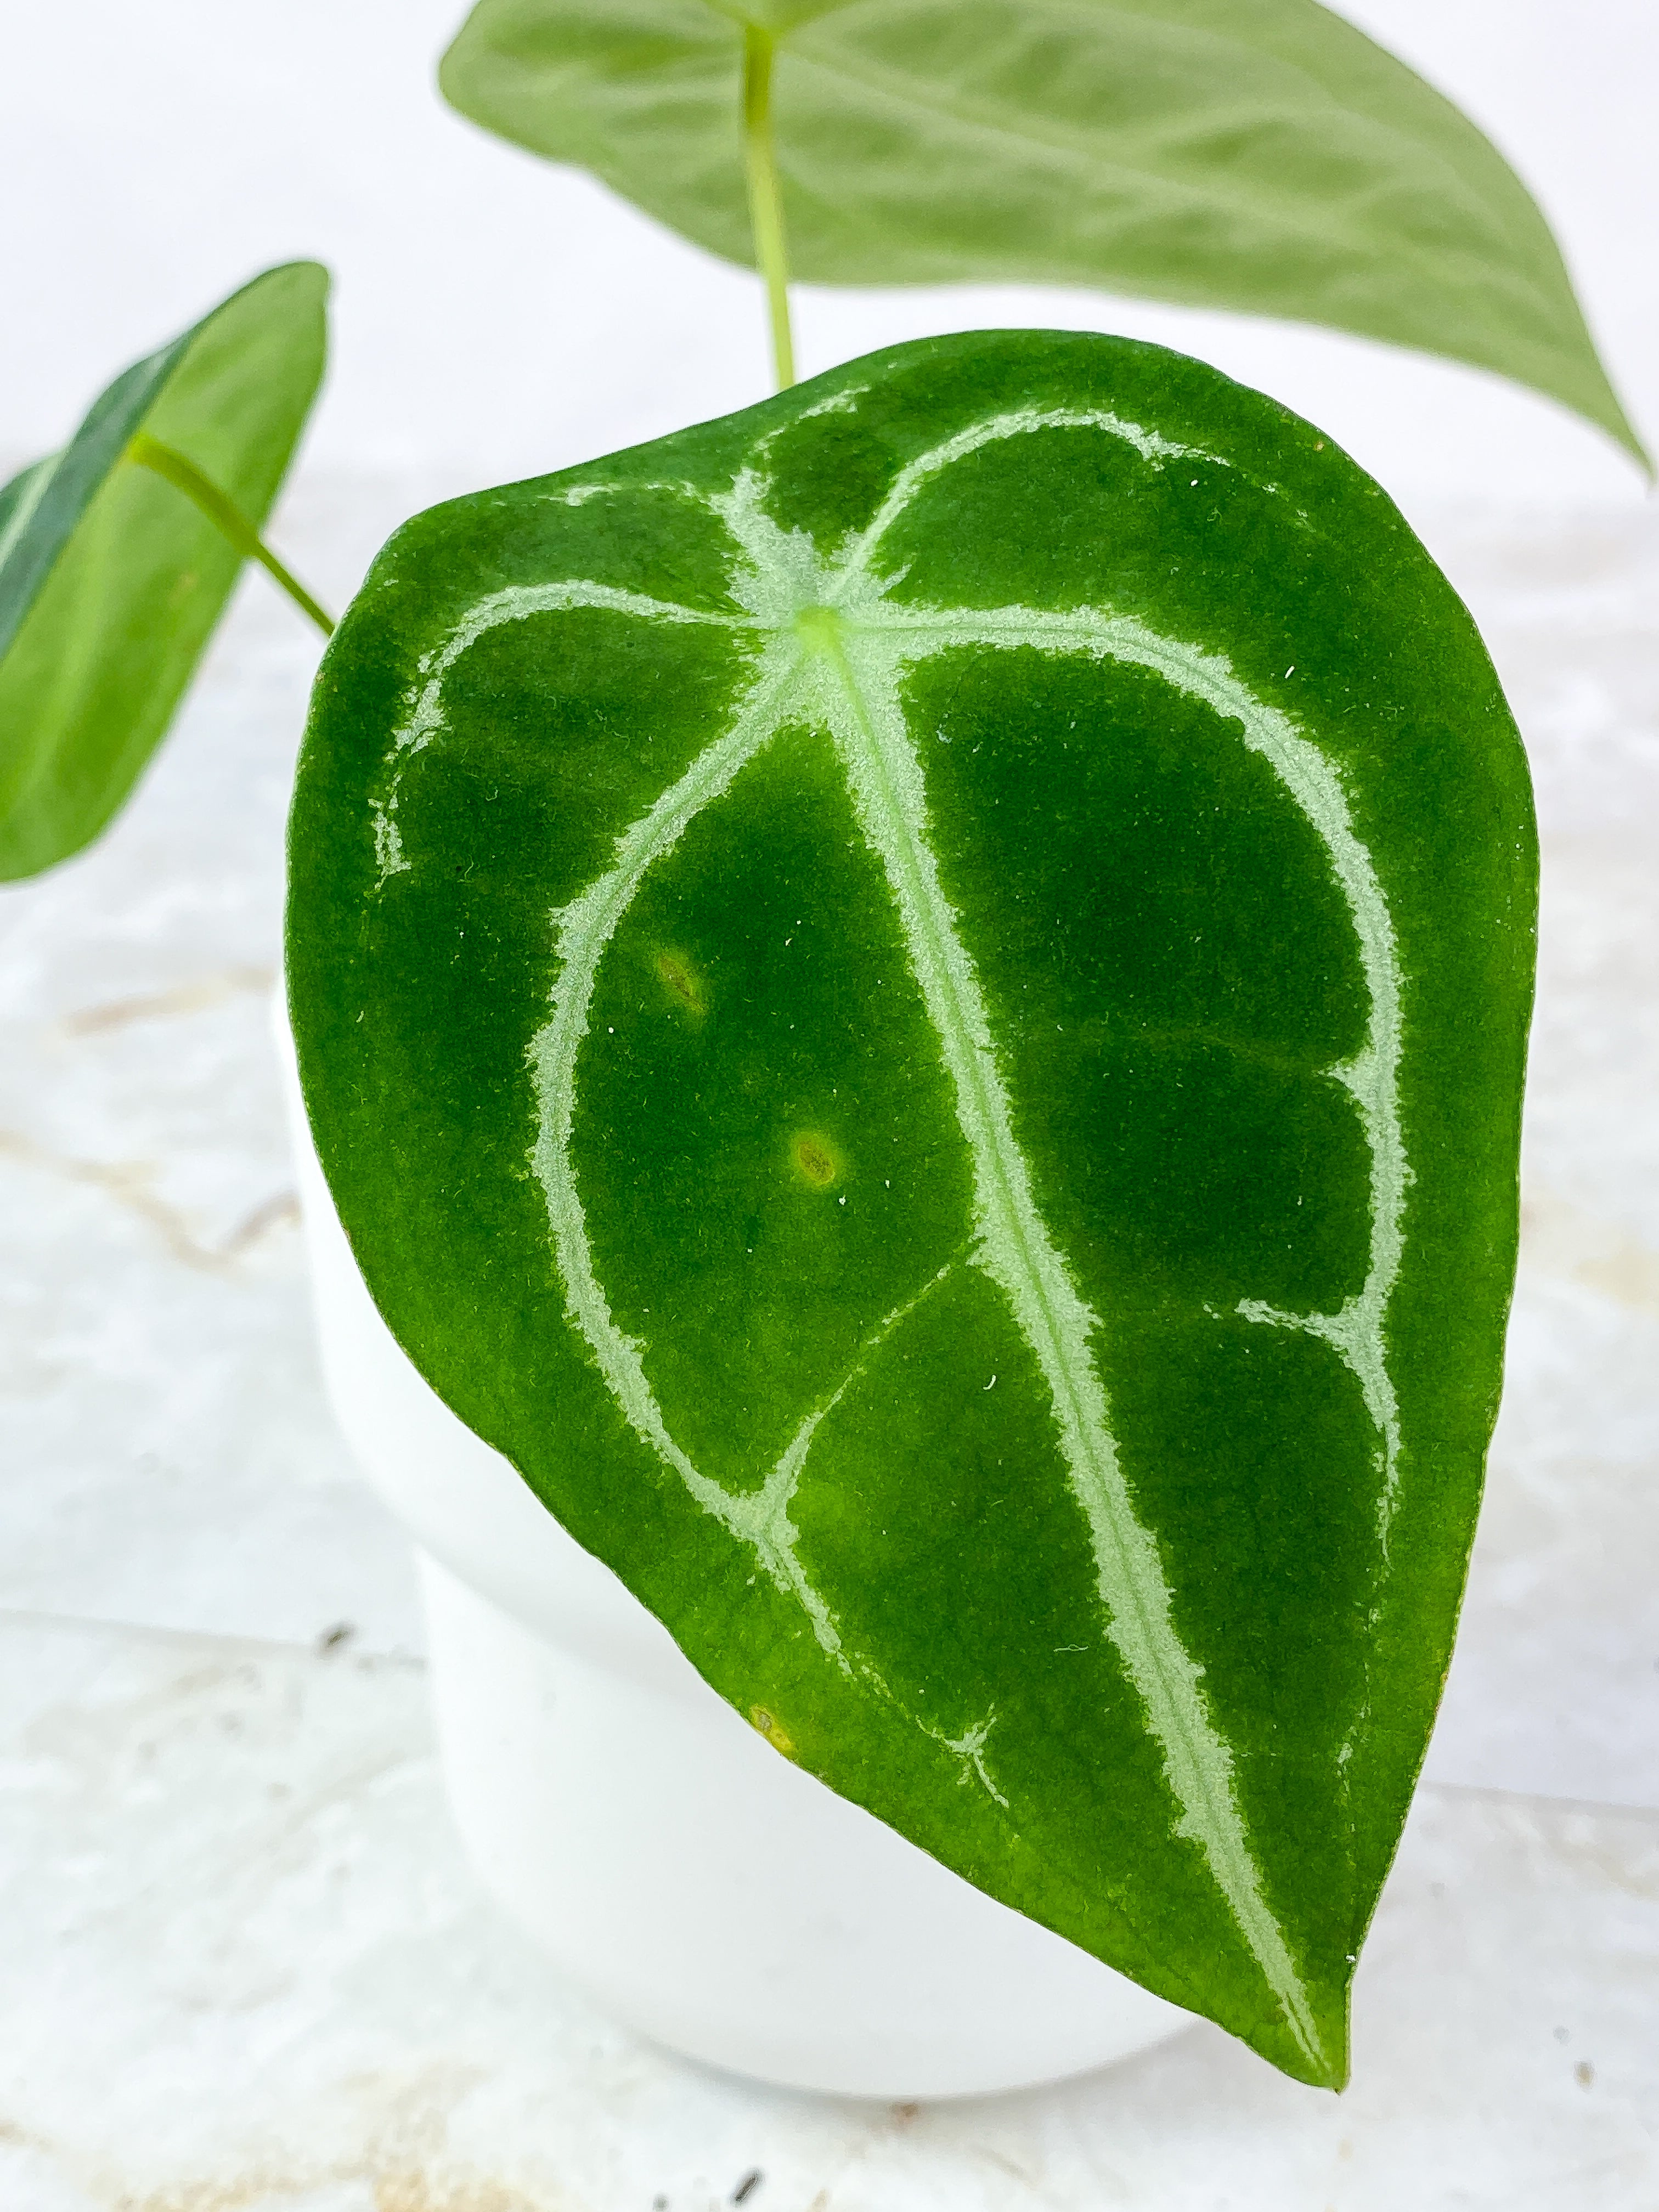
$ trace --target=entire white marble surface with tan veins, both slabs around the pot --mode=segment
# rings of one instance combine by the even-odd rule
[[[279,535],[338,599],[445,489],[312,482]],[[1652,2212],[1657,520],[1433,538],[1533,748],[1544,956],[1511,1383],[1340,2101],[1210,2031],[1033,2097],[770,2097],[473,1891],[307,1338],[263,998],[312,646],[246,586],[115,834],[0,891],[4,2212],[701,2212],[752,2170],[750,2212]]]

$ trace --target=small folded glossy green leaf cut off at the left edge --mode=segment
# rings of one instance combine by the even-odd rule
[[[323,376],[327,270],[290,261],[135,363],[0,491],[0,878],[88,845],[173,721],[241,573],[126,456],[184,453],[259,526]]]

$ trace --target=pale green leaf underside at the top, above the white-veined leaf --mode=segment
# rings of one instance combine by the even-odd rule
[[[1327,323],[1533,385],[1646,467],[1526,186],[1314,0],[480,0],[438,82],[752,265],[745,24],[776,40],[796,276]]]

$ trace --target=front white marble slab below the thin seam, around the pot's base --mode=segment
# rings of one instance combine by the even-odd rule
[[[418,1666],[0,1630],[0,2203],[1405,2212],[1655,2201],[1659,1818],[1429,1792],[1334,2099],[1203,2026],[1053,2090],[768,2095],[571,1997],[451,1843]]]

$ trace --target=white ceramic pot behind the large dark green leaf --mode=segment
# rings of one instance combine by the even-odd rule
[[[449,1803],[500,1902],[633,2028],[787,2088],[1024,2088],[1181,2028],[781,1759],[462,1427],[369,1298],[276,1033],[327,1391],[418,1546]]]

